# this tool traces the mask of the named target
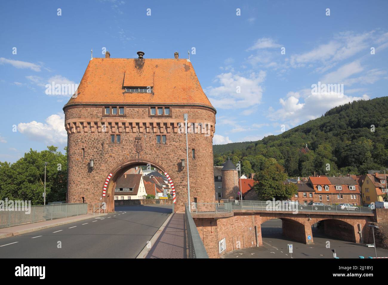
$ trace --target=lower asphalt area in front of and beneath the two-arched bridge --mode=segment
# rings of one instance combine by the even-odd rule
[[[293,244],[293,258],[333,258],[332,249],[337,257],[359,258],[359,256],[375,256],[373,247],[362,244],[335,240],[313,232],[314,244],[307,245],[282,236],[282,221],[272,219],[262,224],[263,247],[251,247],[228,252],[223,258],[291,258],[287,244]],[[327,241],[330,248],[327,248]],[[388,250],[377,249],[377,256],[388,256]]]

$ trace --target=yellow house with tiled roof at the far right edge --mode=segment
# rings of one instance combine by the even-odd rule
[[[365,175],[361,187],[361,197],[364,204],[371,202],[383,202],[383,196],[387,193],[387,181],[384,174],[374,173]]]

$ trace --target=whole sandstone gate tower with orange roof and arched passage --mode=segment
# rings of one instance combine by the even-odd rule
[[[215,109],[187,59],[89,61],[76,94],[64,106],[68,132],[68,202],[107,203],[114,211],[114,187],[129,168],[163,171],[176,191],[176,211],[191,202],[214,202]],[[184,114],[188,114],[186,161]],[[92,161],[92,163],[90,163]]]

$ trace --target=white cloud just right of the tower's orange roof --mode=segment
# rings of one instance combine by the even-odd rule
[[[266,73],[260,71],[251,73],[248,77],[238,74],[222,73],[215,80],[220,84],[218,87],[208,87],[208,94],[211,104],[220,109],[241,109],[260,104],[263,88],[261,83]],[[238,88],[240,93],[237,93]]]

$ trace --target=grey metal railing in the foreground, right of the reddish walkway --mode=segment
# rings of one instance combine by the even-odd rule
[[[187,205],[185,205],[185,225],[187,247],[189,249],[188,258],[209,258]]]

